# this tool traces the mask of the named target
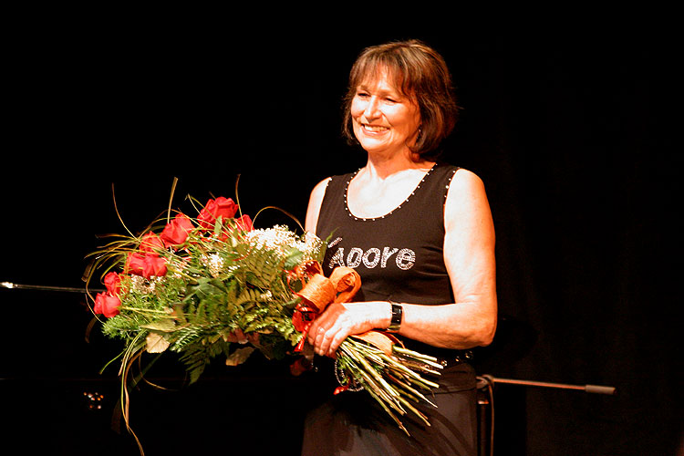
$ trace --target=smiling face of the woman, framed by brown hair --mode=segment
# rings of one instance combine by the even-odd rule
[[[351,119],[361,146],[368,153],[388,155],[409,151],[420,127],[420,109],[394,87],[387,71],[361,83],[351,102]]]

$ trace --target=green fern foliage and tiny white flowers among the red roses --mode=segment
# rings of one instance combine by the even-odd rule
[[[301,280],[291,284],[289,275],[298,264],[315,261],[322,248],[317,238],[306,244],[285,227],[244,233],[219,219],[212,231],[193,231],[180,248],[156,252],[166,275],[121,274],[119,315],[104,321],[102,330],[128,346],[161,337],[164,344],[154,348],[179,353],[191,382],[212,358],[231,357],[239,345],[228,340],[238,330],[258,335],[256,348],[266,358],[284,358],[302,337],[292,323]],[[119,242],[109,256],[125,264],[136,249],[135,242]]]

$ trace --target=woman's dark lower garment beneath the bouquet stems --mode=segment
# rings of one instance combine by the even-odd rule
[[[326,399],[306,415],[302,456],[476,456],[474,370],[466,363],[446,368],[439,383],[430,399],[437,408],[430,404],[417,407],[430,426],[409,414],[399,417],[410,436],[367,392],[333,396],[329,384]]]

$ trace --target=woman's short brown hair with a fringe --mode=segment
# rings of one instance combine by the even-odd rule
[[[357,142],[351,119],[352,99],[358,86],[380,68],[389,71],[402,95],[413,98],[420,109],[420,135],[411,150],[426,158],[436,156],[441,140],[456,124],[459,107],[444,58],[418,40],[390,42],[361,51],[349,72],[343,105],[344,136]]]

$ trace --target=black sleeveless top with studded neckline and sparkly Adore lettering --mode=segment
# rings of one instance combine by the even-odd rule
[[[356,269],[361,289],[355,301],[397,301],[421,305],[454,302],[444,264],[444,202],[459,168],[435,164],[399,207],[375,218],[355,216],[347,188],[358,171],[333,176],[321,204],[316,234],[330,236],[324,273],[337,266]],[[332,233],[332,235],[330,235]],[[407,347],[449,358],[451,350],[406,340]]]

